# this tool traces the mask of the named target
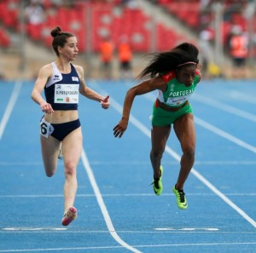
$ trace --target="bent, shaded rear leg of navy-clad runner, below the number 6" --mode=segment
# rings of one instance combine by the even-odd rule
[[[47,176],[52,176],[57,168],[61,141],[52,136],[45,138],[42,135],[40,135],[40,141],[45,173]]]

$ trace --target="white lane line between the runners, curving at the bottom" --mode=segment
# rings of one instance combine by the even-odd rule
[[[113,227],[113,223],[111,221],[111,218],[108,214],[108,210],[107,210],[107,207],[106,205],[104,204],[104,201],[103,201],[103,198],[102,198],[102,193],[100,192],[100,189],[99,187],[97,186],[97,183],[96,183],[96,179],[95,179],[95,176],[90,168],[90,164],[89,164],[89,160],[86,156],[86,153],[84,152],[84,149],[82,151],[82,155],[81,155],[81,158],[82,158],[82,162],[84,164],[84,169],[86,170],[86,173],[89,177],[89,181],[90,181],[90,184],[91,184],[91,187],[93,188],[93,191],[96,195],[96,200],[102,210],[102,215],[104,217],[104,220],[107,224],[107,227],[108,227],[108,231],[109,233],[112,235],[113,239],[115,239],[120,245],[122,245],[123,247],[125,247],[127,250],[131,250],[132,252],[135,252],[135,253],[142,253],[141,251],[133,248],[131,245],[129,244],[126,244],[125,241],[123,241],[122,239],[119,238],[119,235],[118,233],[116,233],[114,227]]]

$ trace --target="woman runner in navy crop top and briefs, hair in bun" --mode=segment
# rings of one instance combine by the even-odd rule
[[[86,86],[82,66],[71,64],[79,53],[77,38],[70,32],[61,32],[60,27],[53,29],[51,36],[54,37],[52,47],[57,58],[40,69],[32,89],[32,100],[44,112],[40,122],[40,141],[47,176],[55,174],[61,147],[66,177],[62,225],[67,226],[77,217],[73,204],[83,141],[78,113],[79,94],[100,102],[104,109],[109,107],[109,101],[108,96],[103,97]],[[41,95],[43,89],[46,100]]]

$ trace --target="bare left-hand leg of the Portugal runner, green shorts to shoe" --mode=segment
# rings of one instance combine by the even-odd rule
[[[150,160],[154,170],[154,179],[160,179],[160,164],[166,148],[166,141],[171,132],[171,126],[152,126]]]

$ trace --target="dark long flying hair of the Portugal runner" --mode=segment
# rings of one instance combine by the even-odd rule
[[[198,49],[191,43],[181,43],[168,52],[148,54],[146,57],[150,60],[149,64],[137,78],[153,78],[158,73],[170,72],[177,69],[178,65],[189,61],[198,64],[198,54]]]

